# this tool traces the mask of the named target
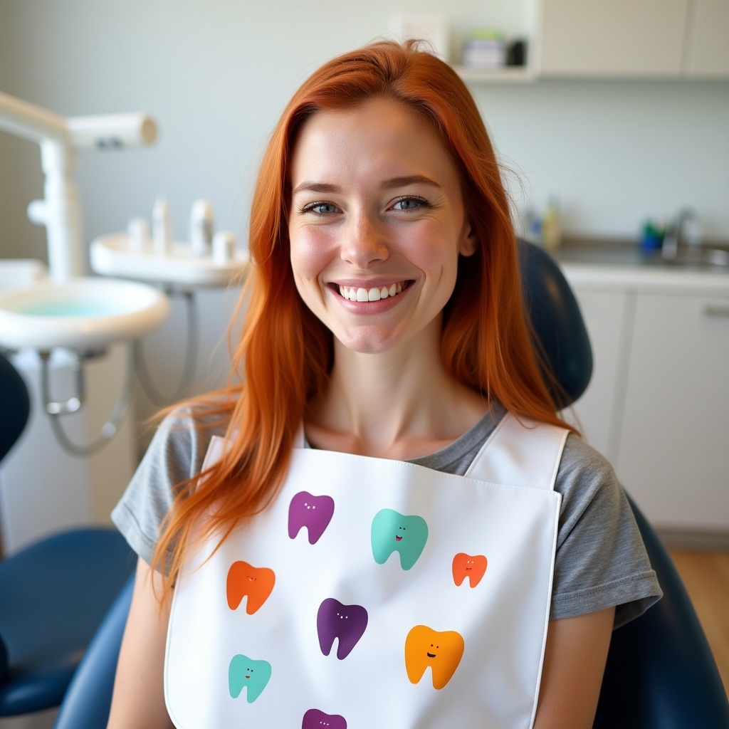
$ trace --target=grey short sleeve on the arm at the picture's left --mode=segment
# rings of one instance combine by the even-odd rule
[[[147,564],[152,561],[160,526],[177,488],[198,475],[213,435],[224,428],[196,427],[190,410],[165,418],[147,453],[112,511],[112,521]]]

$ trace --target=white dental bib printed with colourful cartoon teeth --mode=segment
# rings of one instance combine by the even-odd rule
[[[179,576],[174,725],[531,727],[566,434],[504,416],[466,476],[295,448],[270,506]]]

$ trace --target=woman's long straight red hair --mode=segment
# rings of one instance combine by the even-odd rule
[[[327,382],[332,334],[300,299],[289,262],[289,160],[303,122],[319,109],[383,96],[429,120],[461,175],[478,238],[460,257],[445,307],[441,354],[448,372],[518,416],[564,423],[542,380],[525,321],[515,234],[502,173],[467,87],[416,42],[380,42],[340,55],[309,77],[284,110],[262,160],[252,207],[251,267],[241,298],[243,331],[222,392],[195,401],[195,412],[228,421],[230,449],[208,472],[182,485],[165,521],[153,564],[179,571],[193,524],[225,538],[260,512],[281,484],[308,402]],[[205,407],[200,408],[200,405]],[[171,553],[171,559],[168,554]]]

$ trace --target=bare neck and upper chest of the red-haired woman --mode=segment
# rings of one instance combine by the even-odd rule
[[[327,391],[306,418],[318,448],[412,459],[445,448],[477,423],[488,402],[449,375],[437,351],[407,346],[361,354],[335,342]]]

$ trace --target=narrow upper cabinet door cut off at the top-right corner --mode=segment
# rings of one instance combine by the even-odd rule
[[[685,72],[729,78],[729,0],[692,0]]]

